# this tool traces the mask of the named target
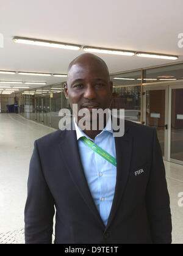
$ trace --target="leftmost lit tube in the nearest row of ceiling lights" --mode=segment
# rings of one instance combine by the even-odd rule
[[[61,49],[73,49],[73,50],[81,49],[81,45],[73,45],[71,43],[61,43],[61,42],[26,38],[26,37],[13,37],[13,41],[15,43],[25,43],[28,45],[47,46],[47,47],[61,48]]]

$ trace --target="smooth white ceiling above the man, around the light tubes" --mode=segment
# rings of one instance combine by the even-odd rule
[[[0,0],[0,6],[0,33],[4,35],[0,70],[66,73],[71,60],[84,53],[22,45],[14,43],[13,36],[173,54],[183,60],[183,48],[178,47],[178,34],[183,32],[182,0]],[[106,61],[110,73],[174,62],[96,55]],[[0,80],[55,84],[65,78],[0,74]]]

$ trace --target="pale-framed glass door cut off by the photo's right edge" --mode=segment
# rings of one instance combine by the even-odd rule
[[[183,164],[183,85],[170,86],[168,160]]]

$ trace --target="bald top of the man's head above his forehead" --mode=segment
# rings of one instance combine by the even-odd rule
[[[93,65],[96,65],[97,67],[104,69],[109,75],[109,70],[106,65],[106,62],[104,62],[104,60],[102,60],[100,57],[96,56],[95,54],[84,53],[77,56],[75,59],[73,59],[68,66],[68,72],[67,72],[68,76],[70,75],[71,68],[73,67],[73,65],[76,65],[76,64],[85,65],[85,66],[88,64],[91,64],[91,65],[93,64]]]

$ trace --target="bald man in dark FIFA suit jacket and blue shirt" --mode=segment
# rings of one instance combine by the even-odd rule
[[[65,97],[78,111],[109,108],[112,82],[104,61],[93,54],[74,59]],[[92,126],[91,115],[87,118]],[[171,243],[170,199],[156,130],[125,121],[124,135],[114,137],[111,118],[104,119],[103,130],[82,131],[78,120],[75,129],[35,141],[26,243],[52,243],[54,207],[54,243]]]

